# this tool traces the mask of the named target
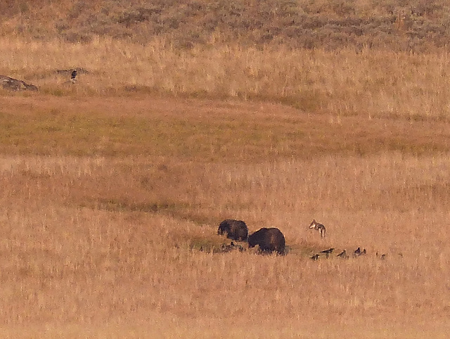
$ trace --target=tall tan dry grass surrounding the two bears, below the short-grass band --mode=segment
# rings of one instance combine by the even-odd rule
[[[84,198],[127,188],[132,196],[136,183],[129,177],[136,181],[147,174],[135,162],[39,157],[3,162],[9,164],[2,170],[1,201],[6,328],[34,324],[42,331],[38,324],[46,324],[55,331],[85,324],[96,331],[124,323],[147,335],[193,336],[195,329],[177,326],[190,321],[193,328],[209,324],[205,338],[243,335],[247,326],[258,326],[250,337],[276,333],[281,338],[331,335],[333,327],[349,335],[343,328],[359,328],[363,321],[368,327],[358,331],[364,335],[380,335],[383,326],[408,333],[422,322],[430,325],[432,316],[441,327],[432,322],[424,331],[444,331],[450,298],[448,212],[444,201],[427,192],[448,179],[446,160],[385,153],[252,167],[204,165],[201,172],[184,164],[184,184],[173,186],[172,195],[161,192],[179,203],[181,210],[174,212],[133,212],[127,203],[122,210],[93,209],[74,200],[81,185]],[[169,186],[178,165],[166,166]],[[373,174],[375,169],[380,172]],[[115,187],[104,180],[110,175]],[[210,221],[189,220],[199,211]],[[180,212],[186,215],[179,218]],[[200,252],[200,243],[225,241],[215,234],[217,222],[231,216],[242,217],[252,230],[279,227],[290,253]],[[326,241],[309,234],[312,217],[326,222]],[[367,248],[366,257],[309,260],[330,246],[359,245]],[[159,321],[172,328],[158,327]],[[312,324],[323,328],[323,322],[330,327],[313,329]],[[236,328],[228,331],[222,324]]]

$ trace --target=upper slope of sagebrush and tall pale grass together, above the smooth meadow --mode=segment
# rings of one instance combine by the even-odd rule
[[[276,101],[336,121],[448,118],[444,1],[2,4],[0,74],[41,93]],[[58,73],[70,68],[86,70],[75,86]]]

